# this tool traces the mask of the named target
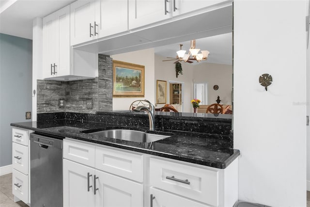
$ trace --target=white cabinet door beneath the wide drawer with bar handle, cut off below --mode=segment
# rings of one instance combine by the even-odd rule
[[[150,203],[153,202],[153,207],[208,207],[207,205],[186,199],[182,196],[160,191],[152,187],[150,188],[150,194],[153,195],[153,199],[150,196]]]

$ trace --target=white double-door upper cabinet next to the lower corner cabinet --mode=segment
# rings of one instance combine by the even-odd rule
[[[128,0],[78,0],[71,4],[71,45],[128,31]]]

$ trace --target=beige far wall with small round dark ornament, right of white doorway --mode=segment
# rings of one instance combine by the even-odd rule
[[[233,66],[228,64],[200,63],[194,66],[194,82],[208,83],[208,104],[232,104]],[[214,90],[213,86],[218,85]]]

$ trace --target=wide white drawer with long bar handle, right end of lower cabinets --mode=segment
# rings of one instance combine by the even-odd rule
[[[218,172],[150,158],[150,185],[218,206]]]

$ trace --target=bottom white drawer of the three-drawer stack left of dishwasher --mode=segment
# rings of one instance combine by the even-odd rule
[[[17,170],[13,169],[12,174],[12,192],[13,194],[22,200],[24,203],[28,203],[28,175],[24,175]]]

